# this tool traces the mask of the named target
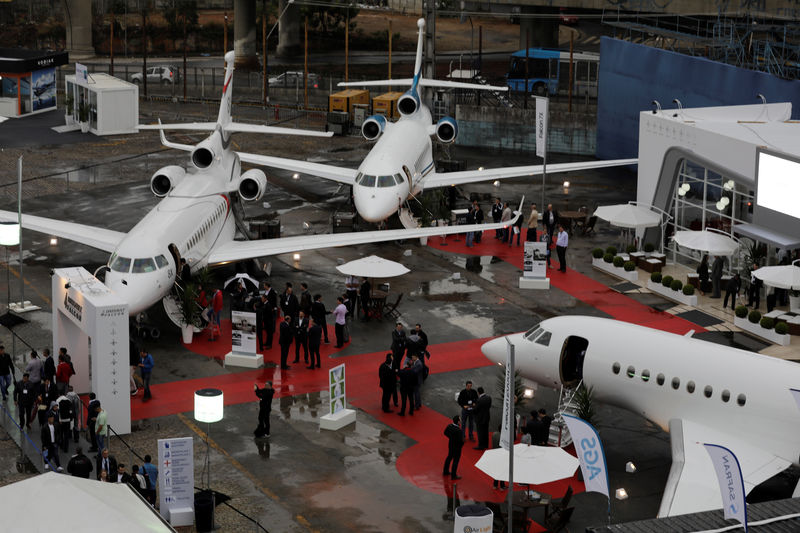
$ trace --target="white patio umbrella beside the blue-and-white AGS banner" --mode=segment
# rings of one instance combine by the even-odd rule
[[[555,446],[514,445],[514,483],[541,485],[572,476],[578,459]],[[508,450],[483,452],[475,466],[491,478],[508,481]]]

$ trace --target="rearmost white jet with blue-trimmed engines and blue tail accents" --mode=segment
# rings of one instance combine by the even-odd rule
[[[425,20],[419,19],[417,26],[419,27],[419,37],[413,78],[339,84],[340,86],[358,87],[410,86],[410,89],[397,101],[397,110],[401,115],[400,120],[391,123],[383,115],[372,115],[364,121],[361,133],[367,140],[377,140],[377,142],[358,169],[239,152],[241,160],[246,163],[310,174],[351,185],[356,209],[361,218],[369,222],[380,222],[399,211],[400,220],[407,228],[416,227],[416,223],[403,205],[420,194],[423,189],[541,174],[542,165],[446,173],[436,171],[431,136],[435,136],[440,142],[452,143],[458,135],[458,123],[452,117],[444,117],[433,124],[430,111],[420,100],[420,88],[506,91],[508,87],[423,78],[422,43]],[[162,142],[164,141],[162,140]],[[184,150],[191,148],[175,143],[164,142],[164,144]],[[636,162],[636,159],[618,159],[557,163],[548,165],[547,170],[556,173],[631,165]]]

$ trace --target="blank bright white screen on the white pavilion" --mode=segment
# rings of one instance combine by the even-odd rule
[[[759,207],[800,219],[800,163],[761,151],[757,170]]]

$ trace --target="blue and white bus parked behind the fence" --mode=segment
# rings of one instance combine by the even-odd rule
[[[572,94],[597,98],[597,75],[600,54],[572,53]],[[506,74],[511,91],[525,91],[525,50],[511,54]],[[528,93],[555,96],[569,92],[569,51],[552,48],[528,49]]]

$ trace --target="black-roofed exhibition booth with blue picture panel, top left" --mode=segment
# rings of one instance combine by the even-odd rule
[[[67,52],[0,48],[0,117],[15,118],[56,108],[56,68]]]

